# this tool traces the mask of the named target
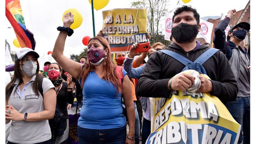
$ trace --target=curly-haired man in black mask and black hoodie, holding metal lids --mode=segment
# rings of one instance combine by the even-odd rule
[[[165,50],[180,54],[190,61],[195,61],[210,47],[196,41],[199,25],[199,14],[191,6],[183,5],[174,12],[172,36],[175,39]],[[222,103],[235,100],[238,91],[236,79],[225,55],[217,51],[202,66],[211,80],[200,76],[201,86],[197,92],[210,92]],[[180,74],[185,66],[164,52],[154,52],[147,61],[143,73],[136,86],[138,96],[169,98],[172,90],[185,91],[193,83],[195,77]]]

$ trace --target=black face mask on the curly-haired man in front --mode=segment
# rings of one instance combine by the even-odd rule
[[[177,43],[191,42],[198,34],[198,25],[180,23],[172,28],[172,36]]]

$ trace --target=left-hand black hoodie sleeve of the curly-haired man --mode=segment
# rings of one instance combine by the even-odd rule
[[[136,94],[143,97],[169,97],[167,89],[168,79],[161,79],[162,64],[158,52],[154,52],[140,75],[136,85]]]

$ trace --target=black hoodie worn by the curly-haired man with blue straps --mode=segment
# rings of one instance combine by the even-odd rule
[[[202,44],[196,50],[185,52],[178,44],[172,43],[166,50],[177,52],[191,61],[195,61],[210,47]],[[225,55],[218,51],[202,65],[213,85],[212,95],[217,96],[223,103],[235,100],[237,84]],[[167,82],[170,78],[180,73],[185,66],[172,57],[154,52],[148,59],[143,73],[139,77],[136,86],[138,96],[146,97],[169,97]]]

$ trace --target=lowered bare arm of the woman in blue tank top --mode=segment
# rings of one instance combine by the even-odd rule
[[[127,112],[128,122],[129,122],[128,136],[134,137],[135,109],[134,109],[134,103],[132,99],[132,87],[127,75],[124,76],[122,88],[123,88],[124,104],[126,107],[126,112]]]

